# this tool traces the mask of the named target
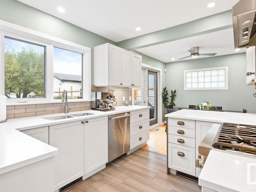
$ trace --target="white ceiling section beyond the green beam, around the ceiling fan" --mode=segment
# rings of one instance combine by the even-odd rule
[[[177,61],[179,58],[190,55],[187,50],[196,46],[200,47],[200,53],[217,53],[216,56],[245,52],[244,48],[240,49],[238,52],[234,51],[232,28],[166,42],[164,44],[137,49],[136,51],[139,51],[145,55],[151,56],[163,62],[173,62],[172,58],[176,58],[174,61]],[[202,57],[209,56],[200,56],[199,58]],[[193,58],[189,57],[182,60],[189,59]]]

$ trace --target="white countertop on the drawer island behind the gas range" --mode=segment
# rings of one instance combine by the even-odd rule
[[[256,125],[256,114],[251,113],[232,113],[218,111],[202,111],[202,110],[179,110],[166,114],[165,117],[190,119],[209,122],[229,122]]]

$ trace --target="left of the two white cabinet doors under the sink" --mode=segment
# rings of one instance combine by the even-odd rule
[[[83,124],[81,121],[49,126],[49,143],[58,148],[54,156],[54,190],[83,176]]]

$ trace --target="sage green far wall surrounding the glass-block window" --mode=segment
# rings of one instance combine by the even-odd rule
[[[228,90],[197,90],[184,91],[184,70],[228,66]],[[168,91],[177,90],[176,106],[187,107],[209,101],[213,105],[223,106],[224,110],[247,109],[256,113],[254,86],[246,86],[246,55],[245,53],[194,60],[166,63],[165,83]]]

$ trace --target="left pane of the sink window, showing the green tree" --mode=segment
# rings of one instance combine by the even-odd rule
[[[7,98],[45,97],[46,47],[5,37],[5,95]]]

